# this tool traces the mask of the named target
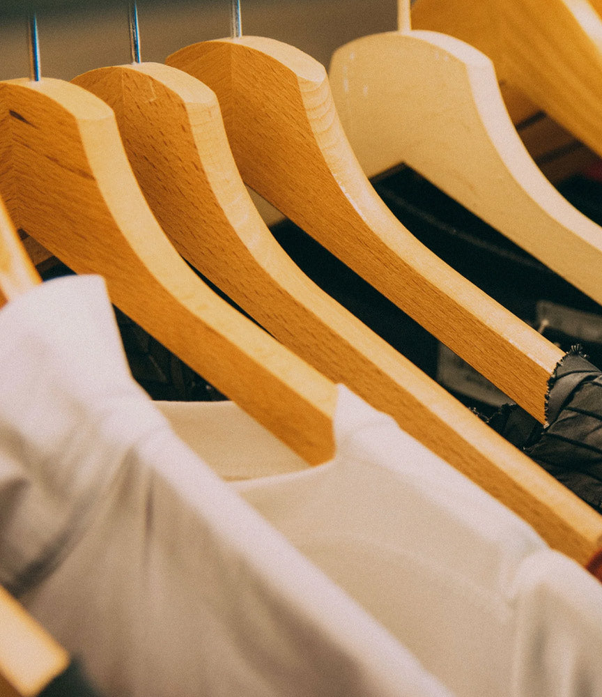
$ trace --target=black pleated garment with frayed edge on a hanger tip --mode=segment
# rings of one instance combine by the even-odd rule
[[[488,424],[602,513],[602,372],[578,349],[550,378],[545,426],[516,404]]]

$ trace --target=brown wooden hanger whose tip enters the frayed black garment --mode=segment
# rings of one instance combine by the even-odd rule
[[[249,36],[192,45],[167,62],[217,93],[245,183],[543,421],[561,352],[396,220],[353,155],[323,66]]]

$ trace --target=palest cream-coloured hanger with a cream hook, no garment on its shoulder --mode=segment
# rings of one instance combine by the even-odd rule
[[[491,61],[440,33],[399,31],[334,53],[330,85],[368,176],[402,162],[602,303],[602,227],[541,174],[511,123]]]

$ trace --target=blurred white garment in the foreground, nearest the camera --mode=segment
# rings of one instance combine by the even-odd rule
[[[174,436],[102,281],[0,312],[0,581],[107,696],[449,693]]]

